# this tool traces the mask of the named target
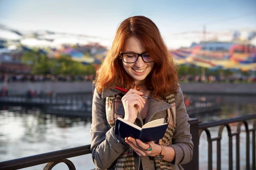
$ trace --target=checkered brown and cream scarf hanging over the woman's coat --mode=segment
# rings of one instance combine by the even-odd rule
[[[175,96],[170,94],[164,99],[172,105],[172,108],[166,110],[168,115],[168,127],[163,139],[159,140],[159,144],[168,145],[172,139],[175,130]],[[106,98],[106,116],[110,127],[115,126],[118,117],[124,118],[124,115],[116,114],[116,109],[122,104],[122,96],[119,94],[108,96]],[[135,152],[131,147],[128,147],[115,161],[115,170],[135,170]],[[172,167],[167,165],[169,162],[162,159],[154,160],[156,170],[171,170]]]

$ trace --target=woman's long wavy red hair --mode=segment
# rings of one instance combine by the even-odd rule
[[[126,73],[120,57],[125,40],[133,36],[141,40],[145,50],[155,61],[153,69],[146,77],[147,89],[152,90],[152,95],[157,98],[175,93],[178,89],[178,78],[174,59],[169,54],[157,26],[144,16],[129,17],[117,28],[111,49],[96,71],[93,83],[97,91],[102,93],[103,88],[113,85],[134,88],[134,80]]]

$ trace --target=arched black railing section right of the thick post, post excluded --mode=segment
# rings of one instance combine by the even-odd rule
[[[240,133],[241,133],[241,125],[244,124],[245,132],[246,132],[246,170],[250,170],[250,132],[252,132],[252,169],[256,170],[255,166],[255,131],[256,131],[256,114],[237,117],[233,119],[225,119],[219,120],[211,123],[201,123],[199,124],[199,138],[203,131],[207,134],[208,141],[208,170],[212,170],[212,142],[217,141],[217,170],[221,170],[221,138],[222,131],[224,127],[227,127],[228,133],[228,145],[229,145],[229,170],[233,170],[233,143],[232,137],[236,136],[236,170],[240,169]],[[247,120],[254,119],[253,128],[249,129]],[[232,132],[230,128],[230,123],[238,122],[236,132]],[[220,126],[218,130],[218,137],[212,138],[211,133],[209,131],[209,127]]]

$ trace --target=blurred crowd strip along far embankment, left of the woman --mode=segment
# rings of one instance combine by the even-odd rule
[[[61,76],[61,75],[31,75],[31,74],[0,74],[0,82],[77,82],[92,81],[93,75]]]

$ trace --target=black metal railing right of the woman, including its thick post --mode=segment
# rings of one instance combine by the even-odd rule
[[[248,120],[253,120],[253,128],[249,129]],[[237,122],[237,131],[232,132],[230,125],[231,123]],[[247,116],[241,116],[231,119],[222,119],[215,122],[200,123],[198,119],[190,119],[190,132],[192,134],[192,141],[194,143],[194,152],[192,160],[183,165],[184,169],[190,169],[193,167],[194,170],[199,169],[199,140],[203,131],[207,134],[208,142],[208,170],[212,170],[212,142],[217,141],[217,170],[221,170],[221,139],[222,132],[224,127],[227,127],[228,133],[228,146],[229,146],[229,170],[233,170],[233,143],[232,137],[236,136],[236,170],[240,170],[240,134],[241,134],[241,125],[244,124],[245,133],[246,133],[246,170],[250,170],[250,132],[252,133],[252,170],[256,170],[255,167],[255,132],[256,132],[256,114],[251,114]],[[218,136],[212,138],[210,127],[219,127]]]

